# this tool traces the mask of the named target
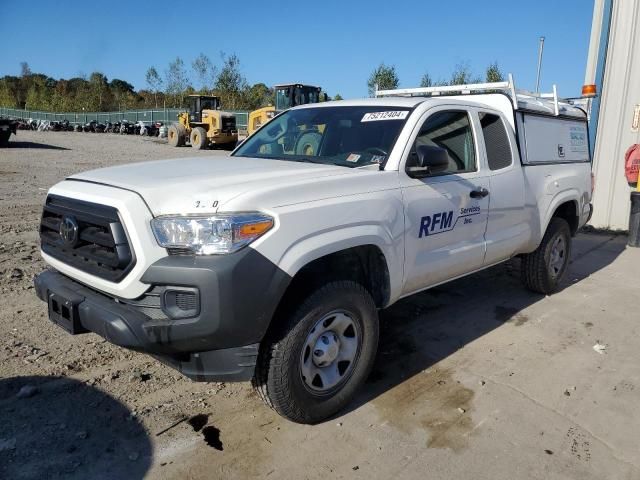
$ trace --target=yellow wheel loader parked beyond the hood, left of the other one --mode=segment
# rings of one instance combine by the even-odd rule
[[[169,145],[181,147],[189,142],[196,150],[212,145],[235,146],[236,117],[220,111],[220,97],[189,95],[188,100],[189,111],[178,114],[178,123],[169,127]]]

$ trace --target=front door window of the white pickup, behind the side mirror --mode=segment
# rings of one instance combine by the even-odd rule
[[[473,130],[466,111],[446,110],[436,112],[427,118],[413,144],[407,161],[408,167],[413,166],[413,162],[416,161],[415,152],[418,145],[440,147],[446,150],[449,167],[438,175],[477,170]]]

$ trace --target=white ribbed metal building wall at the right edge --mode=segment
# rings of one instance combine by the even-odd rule
[[[595,83],[597,52],[605,0],[595,0],[594,21],[585,83]],[[624,154],[640,133],[631,125],[640,104],[640,1],[613,0],[600,113],[593,152],[596,185],[591,225],[596,228],[628,230],[629,194],[624,177]]]

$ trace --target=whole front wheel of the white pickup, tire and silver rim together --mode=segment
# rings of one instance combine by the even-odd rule
[[[289,420],[325,420],[351,401],[369,375],[378,328],[378,311],[361,285],[328,283],[267,338],[254,386]]]

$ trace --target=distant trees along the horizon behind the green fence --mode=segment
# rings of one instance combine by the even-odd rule
[[[484,73],[484,81],[487,82],[504,79],[497,62],[490,64]],[[187,95],[198,93],[219,96],[225,109],[255,110],[272,105],[275,100],[273,88],[264,83],[251,85],[247,82],[240,59],[235,54],[221,53],[219,65],[204,53],[188,64],[181,57],[176,57],[162,71],[150,66],[145,81],[145,88],[136,91],[126,80],[109,80],[102,72],[56,80],[42,73],[33,73],[28,63],[22,62],[20,76],[0,78],[0,106],[51,112],[175,108],[185,106]],[[482,81],[483,77],[473,74],[468,63],[462,63],[454,68],[448,79],[434,81],[428,72],[424,73],[420,86]],[[393,89],[399,84],[395,66],[381,63],[371,72],[367,87],[369,95],[373,96],[376,87],[380,90]],[[342,96],[336,94],[333,99],[342,100]]]

